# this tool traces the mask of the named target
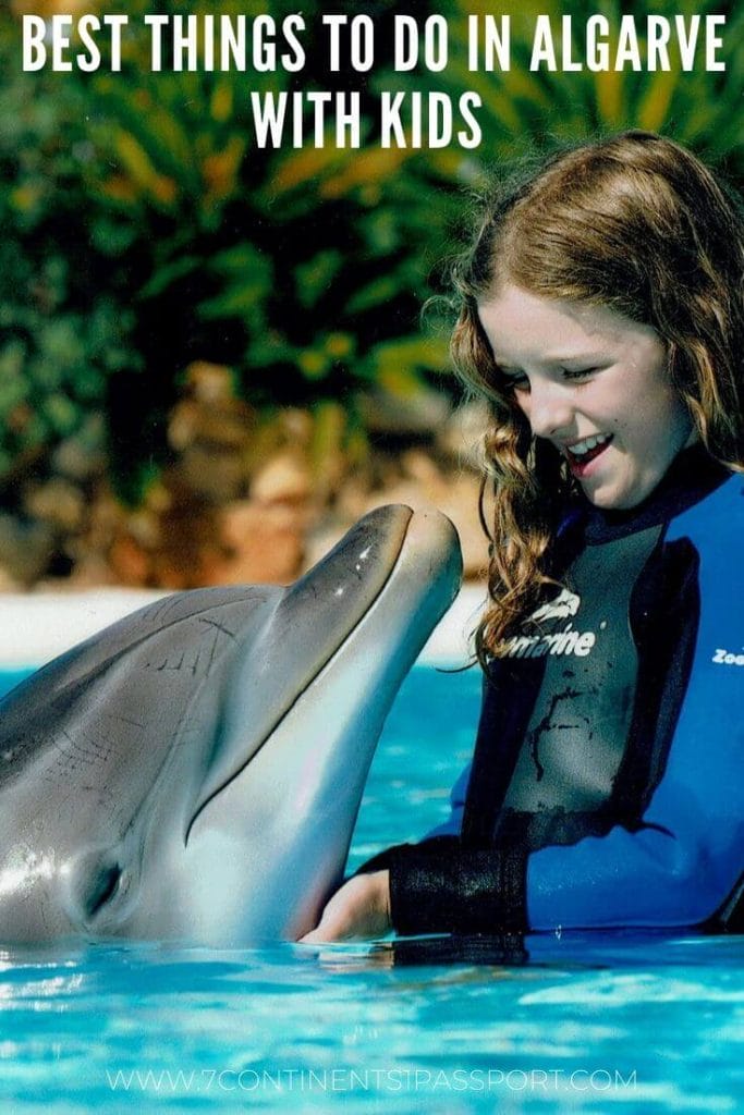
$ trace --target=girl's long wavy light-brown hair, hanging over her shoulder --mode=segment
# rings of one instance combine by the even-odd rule
[[[485,665],[557,583],[555,534],[573,482],[563,457],[532,436],[493,359],[479,301],[512,283],[650,326],[700,440],[713,457],[741,469],[741,198],[678,144],[627,132],[563,151],[497,186],[482,204],[452,281],[454,365],[491,410],[481,493],[491,540],[490,605],[475,637]]]

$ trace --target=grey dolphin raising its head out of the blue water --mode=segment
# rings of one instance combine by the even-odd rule
[[[378,508],[288,589],[176,593],[0,702],[0,942],[296,940],[341,879],[454,527]]]

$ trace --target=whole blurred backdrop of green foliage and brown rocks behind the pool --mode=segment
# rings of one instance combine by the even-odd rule
[[[566,10],[540,0],[497,6],[512,69],[471,74],[466,19],[493,4],[376,0],[334,7],[374,17],[374,71],[329,75],[305,0],[300,74],[151,74],[145,12],[281,20],[297,0],[3,0],[0,590],[284,582],[390,501],[448,513],[477,576],[484,415],[450,371],[446,304],[422,321],[473,197],[534,147],[629,126],[742,184],[744,6],[570,11],[642,30],[649,7],[725,14],[726,70],[531,74],[534,16]],[[22,72],[21,16],[83,11],[128,14],[123,71]],[[396,13],[447,18],[446,70],[394,71]],[[257,148],[252,89],[359,89],[361,149]],[[475,90],[482,145],[380,149],[380,89]]]

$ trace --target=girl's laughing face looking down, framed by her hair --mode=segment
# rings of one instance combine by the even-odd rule
[[[695,440],[649,326],[511,284],[484,299],[479,314],[532,433],[563,454],[598,507],[635,507]]]

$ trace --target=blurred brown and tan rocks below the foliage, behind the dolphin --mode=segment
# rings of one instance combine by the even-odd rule
[[[444,395],[259,415],[228,369],[193,365],[168,421],[171,463],[136,508],[114,495],[102,432],[15,478],[0,513],[0,588],[187,589],[297,578],[381,503],[434,505],[455,523],[465,574],[484,571],[473,446],[485,415]],[[364,435],[360,433],[364,430]]]

